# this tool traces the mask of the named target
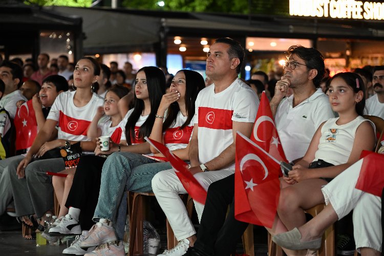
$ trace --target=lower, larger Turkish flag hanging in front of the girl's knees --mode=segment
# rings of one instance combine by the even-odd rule
[[[235,161],[234,217],[271,228],[279,203],[280,164],[239,132]]]

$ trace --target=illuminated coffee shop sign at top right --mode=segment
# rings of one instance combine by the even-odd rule
[[[294,16],[384,20],[384,3],[354,0],[289,0]]]

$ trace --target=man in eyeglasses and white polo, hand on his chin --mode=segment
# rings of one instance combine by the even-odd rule
[[[319,88],[325,74],[323,55],[314,48],[291,46],[286,56],[270,106],[286,157],[295,161],[305,155],[317,127],[334,116]],[[288,88],[293,95],[285,97]]]

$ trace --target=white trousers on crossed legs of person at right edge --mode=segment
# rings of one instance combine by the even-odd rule
[[[356,248],[381,251],[381,198],[356,189],[362,159],[322,188],[326,204],[331,203],[339,219],[353,210]]]

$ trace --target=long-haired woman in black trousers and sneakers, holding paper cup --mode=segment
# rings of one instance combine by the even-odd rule
[[[144,137],[151,133],[164,92],[165,77],[160,69],[144,67],[139,70],[135,84],[135,108],[129,111],[120,123],[122,129],[120,144],[110,143],[109,151],[101,151],[100,146],[97,145],[96,156],[81,157],[66,202],[69,208],[68,215],[54,224],[54,227],[49,230],[50,236],[76,234],[81,235],[79,238],[82,241],[88,235],[86,230],[94,224],[92,216],[100,190],[101,169],[105,162],[105,158],[98,155],[105,156],[117,151],[150,154],[150,145],[144,142]],[[86,252],[81,250],[75,243],[64,253]]]

